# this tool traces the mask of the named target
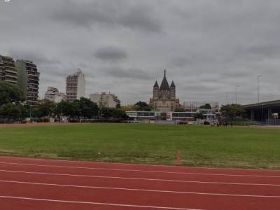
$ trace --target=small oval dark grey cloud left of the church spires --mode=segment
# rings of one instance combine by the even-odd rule
[[[117,61],[127,58],[127,52],[123,48],[108,46],[97,49],[95,57],[104,61]]]

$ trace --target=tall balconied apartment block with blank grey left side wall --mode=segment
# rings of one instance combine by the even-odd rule
[[[36,64],[29,60],[18,59],[15,62],[18,71],[18,86],[27,98],[27,104],[34,105],[38,101],[39,76]]]

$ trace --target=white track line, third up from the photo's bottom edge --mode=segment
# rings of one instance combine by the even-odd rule
[[[0,172],[50,175],[50,176],[90,177],[90,178],[101,178],[101,179],[166,181],[166,182],[179,182],[179,183],[210,183],[210,184],[239,185],[239,186],[274,186],[274,187],[279,187],[280,186],[280,184],[268,184],[268,183],[234,183],[234,182],[218,182],[218,181],[188,181],[188,180],[174,180],[174,179],[148,179],[148,178],[122,177],[122,176],[94,176],[94,175],[83,175],[83,174],[55,174],[55,173],[45,173],[45,172],[10,171],[10,170],[2,170],[2,169],[0,169]]]

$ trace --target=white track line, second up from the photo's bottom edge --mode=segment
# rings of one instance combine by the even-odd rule
[[[55,184],[55,183],[38,183],[38,182],[27,182],[27,181],[0,180],[0,183],[20,183],[20,184],[28,184],[28,185],[36,185],[36,186],[55,186],[55,187],[68,187],[68,188],[89,188],[89,189],[92,188],[92,189],[102,189],[102,190],[128,190],[128,191],[141,191],[141,192],[152,192],[152,193],[280,198],[280,195],[242,195],[242,194],[227,194],[227,193],[198,193],[198,192],[188,192],[188,191],[149,190],[149,189],[139,189],[139,188],[110,188],[110,187],[99,187],[99,186],[75,186],[75,185],[63,185],[63,184]]]

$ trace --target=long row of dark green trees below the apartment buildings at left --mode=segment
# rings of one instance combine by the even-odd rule
[[[0,82],[0,122],[22,122],[26,118],[47,122],[50,118],[61,120],[66,116],[70,121],[81,120],[125,120],[125,111],[116,108],[99,107],[87,98],[74,102],[59,103],[47,99],[39,100],[34,106],[24,104],[25,95],[17,85]]]

